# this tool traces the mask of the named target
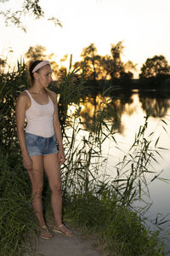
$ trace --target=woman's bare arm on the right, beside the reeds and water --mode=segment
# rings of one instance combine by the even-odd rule
[[[56,99],[56,95],[53,92],[53,97]],[[56,100],[57,101],[57,100]],[[54,132],[55,136],[57,138],[57,142],[59,144],[59,163],[63,164],[65,162],[65,153],[64,153],[64,148],[63,148],[63,139],[61,135],[61,128],[60,128],[60,123],[59,123],[59,114],[58,114],[58,104],[56,102],[55,106],[55,111],[54,111]]]

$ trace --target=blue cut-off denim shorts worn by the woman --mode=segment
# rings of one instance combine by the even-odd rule
[[[52,137],[41,137],[25,132],[25,136],[26,148],[30,156],[58,153],[55,135]]]

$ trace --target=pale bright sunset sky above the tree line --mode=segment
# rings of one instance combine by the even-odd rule
[[[21,3],[10,0],[7,6],[20,9]],[[63,28],[27,15],[25,33],[4,26],[1,17],[0,54],[8,55],[8,60],[15,62],[30,46],[40,44],[47,54],[57,56],[57,62],[65,54],[72,54],[74,62],[91,43],[99,55],[109,55],[111,44],[123,41],[122,60],[138,63],[138,69],[154,55],[164,55],[170,62],[169,0],[41,0],[40,4],[46,17],[57,17]],[[14,52],[8,53],[11,48]]]

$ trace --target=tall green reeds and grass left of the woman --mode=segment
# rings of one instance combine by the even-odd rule
[[[23,255],[37,227],[31,209],[31,187],[22,166],[16,137],[15,104],[26,88],[24,63],[18,71],[0,74],[0,255]],[[35,236],[36,237],[36,236]]]

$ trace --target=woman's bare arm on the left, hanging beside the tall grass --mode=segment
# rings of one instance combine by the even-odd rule
[[[24,125],[26,117],[26,109],[29,106],[29,99],[26,93],[20,94],[16,104],[16,125],[17,125],[17,136],[20,143],[20,149],[22,152],[23,165],[28,171],[32,169],[32,161],[27,152],[26,138],[24,135]]]

